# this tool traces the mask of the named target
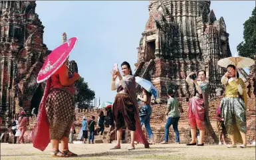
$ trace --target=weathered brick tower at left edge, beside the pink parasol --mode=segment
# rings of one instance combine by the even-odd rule
[[[36,78],[49,50],[35,1],[0,1],[0,108],[3,125],[19,109],[31,111]],[[6,123],[5,123],[6,122]]]

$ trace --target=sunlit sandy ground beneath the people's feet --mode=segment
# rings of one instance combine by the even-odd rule
[[[143,145],[136,145],[133,151],[126,150],[128,144],[122,144],[122,149],[110,150],[114,144],[70,144],[70,151],[77,153],[79,157],[64,159],[255,159],[255,146],[249,145],[246,149],[239,147],[228,149],[224,145],[205,145],[203,147],[187,147],[185,144],[150,145],[145,149]],[[32,144],[8,144],[1,143],[1,160],[21,159],[37,160],[51,159],[49,155],[51,145],[45,151],[35,149]],[[61,158],[57,158],[61,159]]]

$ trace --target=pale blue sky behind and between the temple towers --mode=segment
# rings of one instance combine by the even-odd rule
[[[61,44],[64,32],[78,37],[70,60],[95,91],[96,98],[113,101],[110,90],[113,64],[126,60],[134,71],[141,34],[149,17],[148,1],[37,1],[36,12],[45,26],[44,43],[49,50]],[[255,1],[211,1],[217,19],[223,17],[232,54],[243,41],[243,23],[251,16]],[[98,104],[98,102],[97,102]]]

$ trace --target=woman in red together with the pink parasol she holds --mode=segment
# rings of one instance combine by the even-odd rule
[[[80,78],[68,75],[68,55],[76,44],[76,37],[66,41],[47,56],[39,72],[37,82],[47,80],[45,92],[39,106],[37,124],[33,127],[33,146],[44,151],[51,139],[53,157],[77,157],[68,150],[68,135],[74,116],[74,82]],[[62,151],[59,151],[61,141]]]

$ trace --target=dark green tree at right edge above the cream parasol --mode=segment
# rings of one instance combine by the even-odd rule
[[[253,9],[252,16],[243,23],[243,39],[238,44],[237,51],[239,56],[253,58],[256,52],[256,8]]]

